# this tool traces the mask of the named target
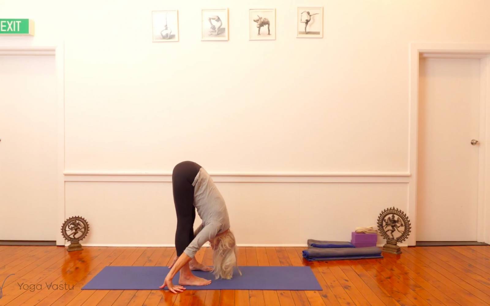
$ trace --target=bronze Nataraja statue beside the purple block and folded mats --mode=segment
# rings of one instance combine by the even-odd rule
[[[407,239],[412,230],[410,220],[405,212],[392,207],[383,210],[379,214],[378,231],[386,239],[383,252],[400,254],[401,249],[397,243]]]

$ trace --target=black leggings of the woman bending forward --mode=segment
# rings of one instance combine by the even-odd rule
[[[194,239],[194,186],[192,183],[199,173],[200,165],[194,162],[177,164],[172,171],[173,203],[177,213],[177,230],[175,231],[175,249],[180,256]]]

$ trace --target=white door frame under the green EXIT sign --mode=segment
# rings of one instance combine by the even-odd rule
[[[56,220],[60,231],[56,232],[56,245],[65,245],[61,235],[61,225],[65,221],[65,47],[64,42],[47,45],[32,45],[28,39],[7,39],[0,41],[0,56],[54,56],[56,65],[57,104],[57,166],[56,166]]]

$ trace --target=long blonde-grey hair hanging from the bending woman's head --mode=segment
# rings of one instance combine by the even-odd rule
[[[234,267],[237,267],[238,272],[242,275],[242,272],[238,269],[237,246],[233,233],[228,230],[226,233],[214,238],[213,242],[216,245],[213,252],[213,274],[216,279],[220,277],[227,280],[231,279]]]

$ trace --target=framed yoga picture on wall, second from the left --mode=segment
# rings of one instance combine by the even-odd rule
[[[228,9],[201,11],[201,40],[228,40]]]

